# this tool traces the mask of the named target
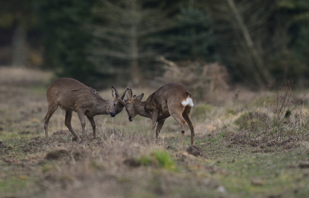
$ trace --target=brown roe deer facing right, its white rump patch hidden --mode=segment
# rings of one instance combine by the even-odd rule
[[[78,118],[82,124],[82,134],[85,135],[85,115],[93,129],[93,136],[95,135],[95,115],[110,115],[114,117],[121,112],[125,102],[123,98],[129,87],[125,89],[122,96],[112,86],[112,101],[104,100],[95,89],[84,85],[78,80],[72,78],[59,78],[55,80],[47,89],[46,96],[48,101],[48,112],[44,118],[44,129],[46,142],[48,138],[48,122],[50,117],[56,111],[58,106],[66,111],[65,125],[77,140],[80,140],[79,136],[75,133],[71,126],[71,119],[73,111],[77,112]]]

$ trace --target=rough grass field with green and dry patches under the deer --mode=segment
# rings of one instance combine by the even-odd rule
[[[151,120],[136,116],[129,122],[125,111],[95,116],[96,139],[86,121],[86,136],[76,142],[60,108],[46,143],[52,78],[0,68],[0,197],[308,197],[308,104],[293,109],[305,91],[282,101],[278,93],[237,88],[220,93],[221,105],[194,101],[195,146],[187,127],[184,146],[177,147],[180,126],[173,118],[154,142]],[[153,91],[133,94],[144,92],[144,101]],[[112,99],[111,89],[99,93]],[[280,115],[276,96],[284,104]],[[284,118],[287,109],[291,115]],[[76,113],[72,126],[81,135]]]

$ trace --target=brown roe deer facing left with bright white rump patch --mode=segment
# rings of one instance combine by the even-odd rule
[[[194,143],[194,125],[190,118],[193,101],[188,89],[180,84],[169,83],[152,93],[144,102],[141,101],[143,96],[144,93],[132,96],[132,90],[129,89],[125,104],[129,121],[132,122],[137,114],[152,119],[151,137],[158,122],[156,129],[156,138],[158,138],[165,119],[172,116],[181,126],[179,146],[182,146],[184,141],[187,123],[191,130],[191,145]]]

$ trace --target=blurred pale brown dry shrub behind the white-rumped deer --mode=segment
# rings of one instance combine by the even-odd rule
[[[205,63],[203,61],[187,62],[180,66],[158,57],[163,62],[165,72],[159,81],[162,83],[179,83],[184,85],[197,100],[212,102],[217,94],[229,89],[230,80],[226,67],[218,63]]]

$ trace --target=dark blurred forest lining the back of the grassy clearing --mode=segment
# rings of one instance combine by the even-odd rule
[[[309,1],[0,0],[0,65],[52,69],[96,89],[180,77],[306,87]]]

